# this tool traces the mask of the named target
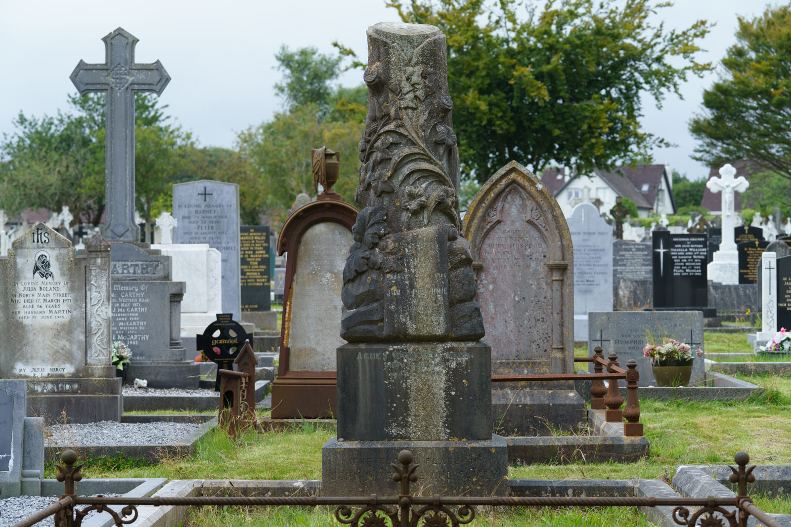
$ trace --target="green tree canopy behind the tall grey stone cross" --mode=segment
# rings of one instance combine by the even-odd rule
[[[69,205],[75,222],[85,213],[98,223],[104,211],[104,94],[69,96],[72,113],[26,117],[0,144],[0,208],[59,211]],[[166,105],[147,93],[135,96],[135,191],[138,213],[148,222],[154,203],[169,194],[184,170],[190,134],[167,123]],[[169,208],[169,207],[168,207]]]

